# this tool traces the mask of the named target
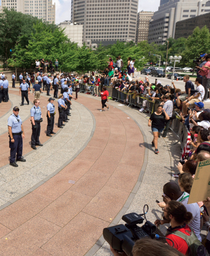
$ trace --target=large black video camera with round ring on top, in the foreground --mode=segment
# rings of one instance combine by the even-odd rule
[[[146,211],[145,211],[146,210]],[[118,252],[125,252],[128,256],[133,256],[132,249],[136,240],[143,238],[162,238],[164,235],[158,228],[146,219],[146,213],[148,213],[149,207],[147,204],[143,207],[143,214],[128,213],[122,216],[122,220],[127,224],[119,224],[113,227],[104,228],[104,239]],[[143,218],[144,216],[145,218]],[[146,220],[142,227],[137,224],[142,224]],[[162,240],[166,242],[166,240]]]

